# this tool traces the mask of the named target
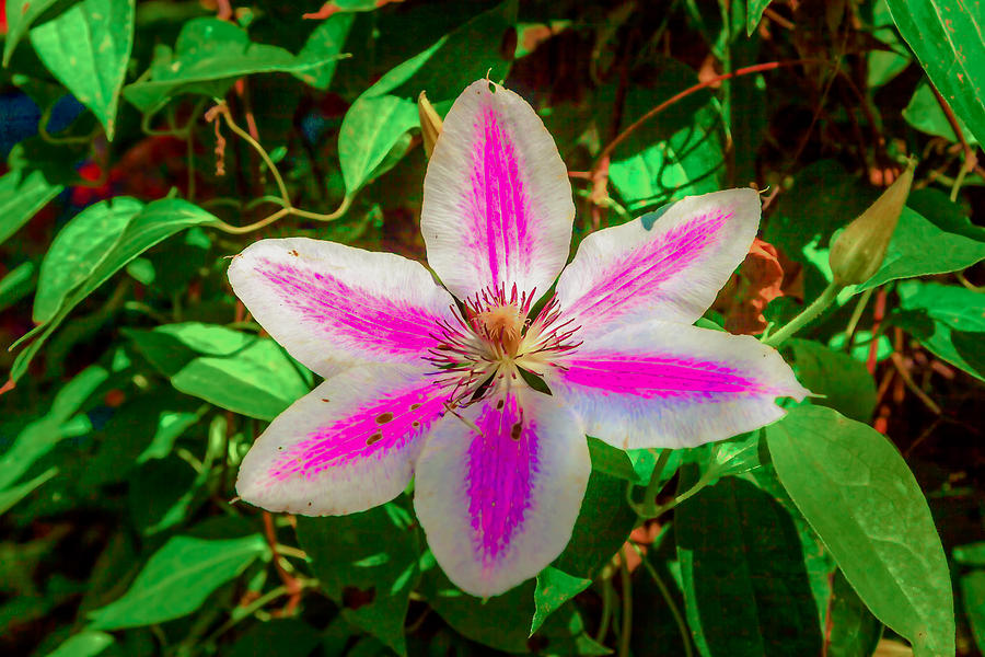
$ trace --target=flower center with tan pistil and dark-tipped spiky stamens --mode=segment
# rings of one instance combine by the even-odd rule
[[[514,285],[487,288],[463,303],[457,325],[445,323],[433,335],[438,346],[430,360],[441,383],[453,384],[455,405],[482,399],[496,385],[520,378],[520,369],[542,377],[547,368],[564,367],[556,357],[581,343],[572,337],[578,327],[563,321],[557,299],[552,298],[531,321],[534,293],[519,293]]]

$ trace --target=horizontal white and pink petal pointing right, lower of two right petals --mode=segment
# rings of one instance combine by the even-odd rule
[[[749,335],[646,322],[593,338],[547,372],[584,430],[621,449],[694,447],[765,426],[810,392]]]

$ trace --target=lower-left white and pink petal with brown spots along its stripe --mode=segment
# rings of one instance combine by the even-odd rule
[[[346,370],[274,419],[243,459],[236,493],[264,509],[304,516],[384,504],[406,488],[450,392],[421,368]]]

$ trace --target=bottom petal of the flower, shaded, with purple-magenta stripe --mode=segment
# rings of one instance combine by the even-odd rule
[[[577,418],[546,394],[513,389],[459,415],[428,438],[414,508],[449,579],[496,596],[565,549],[591,460]]]

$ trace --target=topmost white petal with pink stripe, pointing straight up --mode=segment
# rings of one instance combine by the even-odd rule
[[[425,176],[428,263],[460,299],[515,284],[543,295],[568,258],[575,204],[554,139],[519,95],[471,84],[444,118]]]

